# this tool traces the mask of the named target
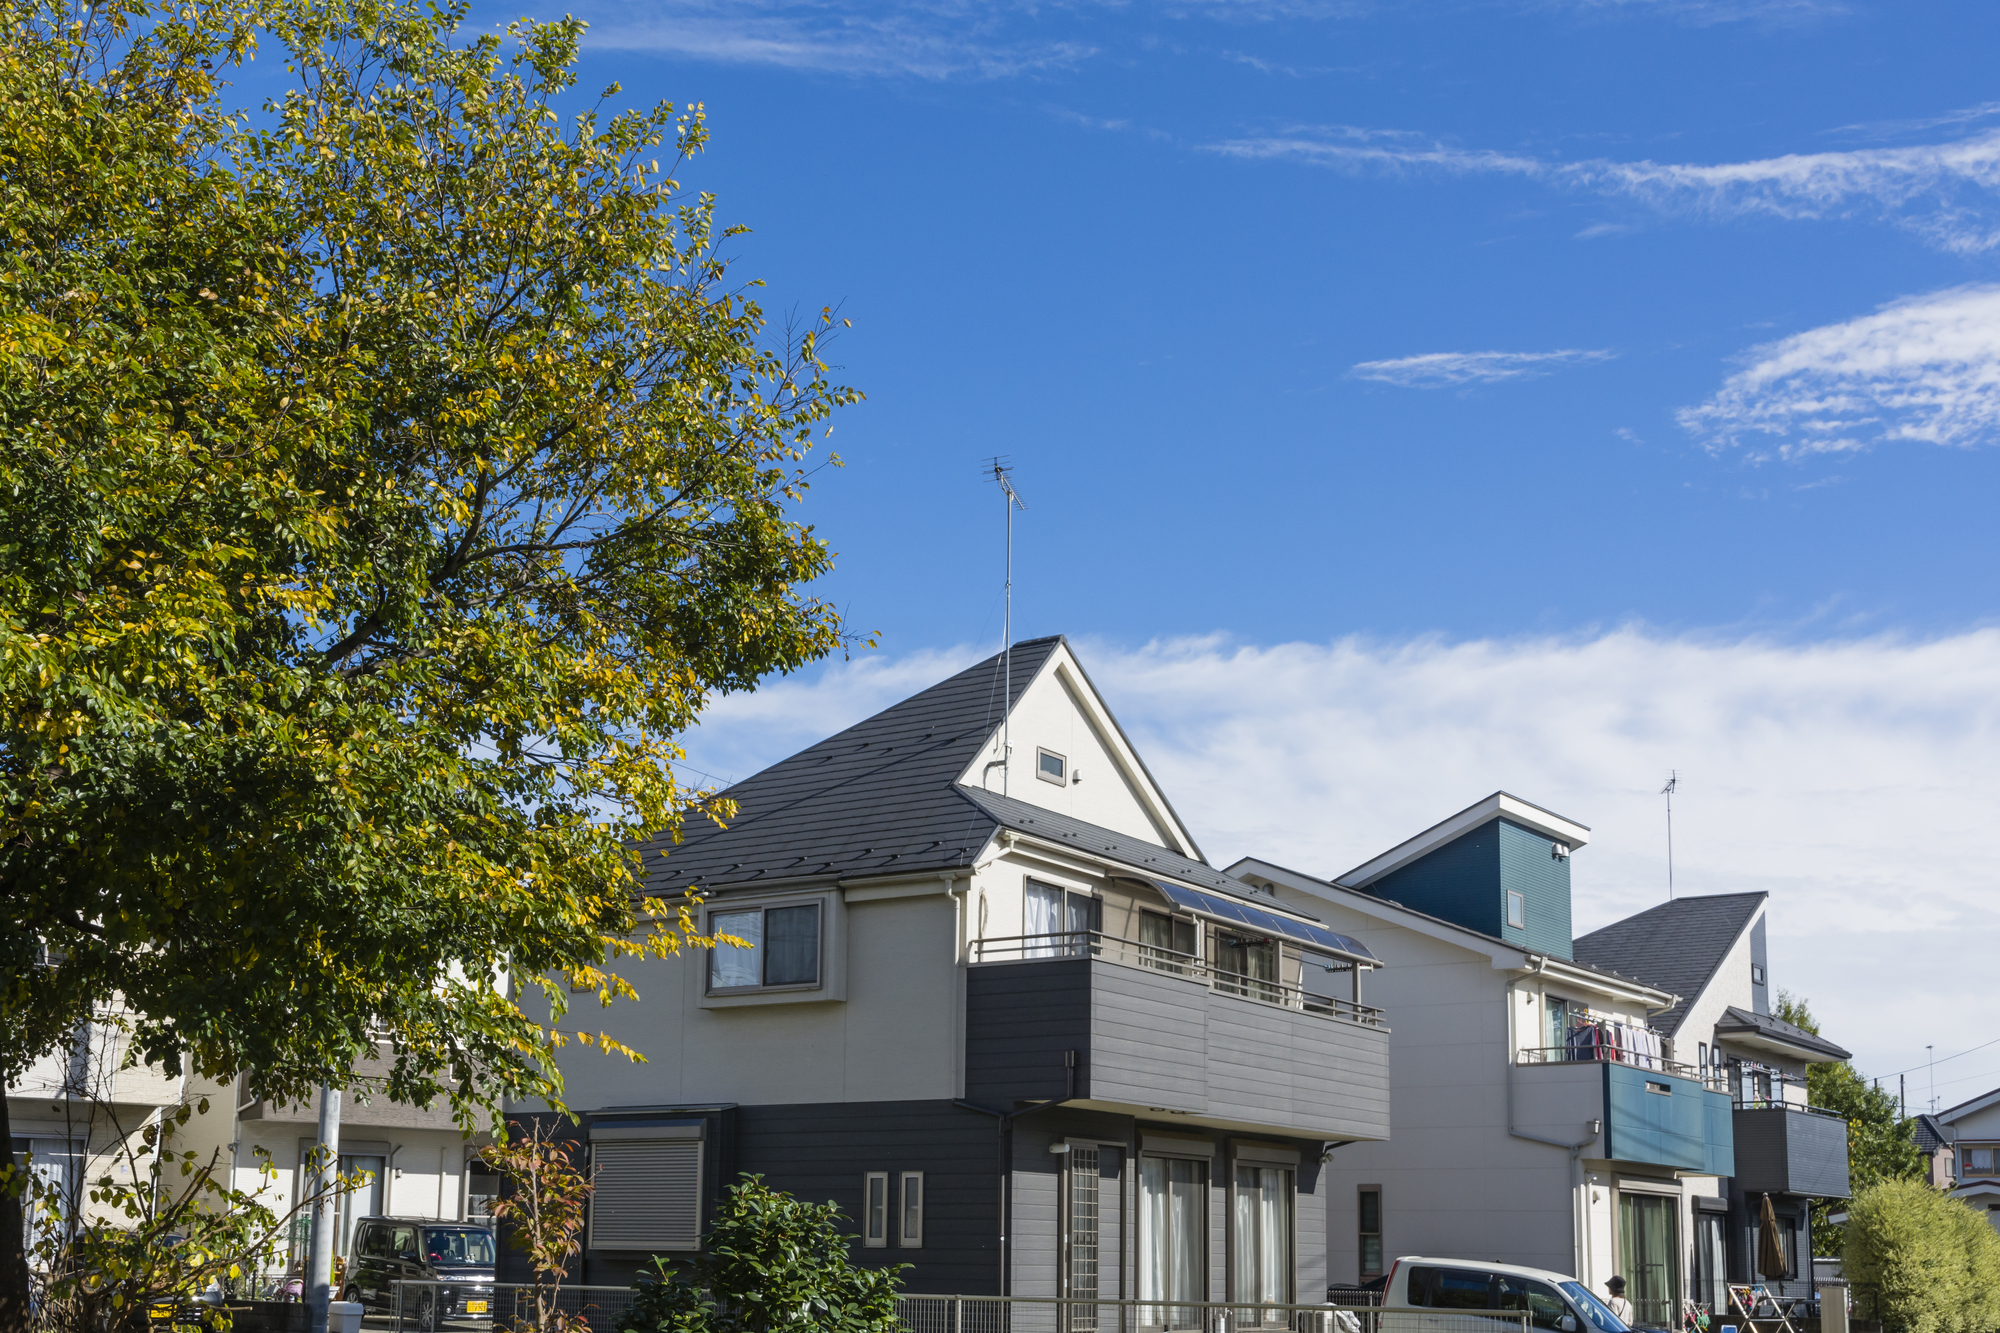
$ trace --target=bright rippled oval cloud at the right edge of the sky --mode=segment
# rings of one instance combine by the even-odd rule
[[[1754,348],[1680,422],[1784,458],[2000,438],[2000,286],[1958,286]]]

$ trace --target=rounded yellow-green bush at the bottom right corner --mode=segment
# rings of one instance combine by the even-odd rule
[[[1888,1329],[2000,1329],[2000,1235],[1986,1213],[1922,1181],[1882,1181],[1854,1195],[1842,1259],[1858,1313]]]

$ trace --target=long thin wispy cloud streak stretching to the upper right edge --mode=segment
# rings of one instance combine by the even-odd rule
[[[1354,126],[1300,128],[1208,144],[1236,158],[1342,170],[1488,174],[1638,200],[1662,212],[1776,218],[1880,216],[1958,254],[2000,246],[2000,130],[1944,144],[1792,152],[1750,162],[1560,162]]]

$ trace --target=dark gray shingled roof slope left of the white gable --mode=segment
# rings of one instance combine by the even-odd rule
[[[1014,701],[1062,642],[1014,644]],[[994,656],[726,789],[728,829],[690,817],[676,845],[640,845],[646,893],[944,871],[972,863],[996,819],[958,775],[1000,727]]]

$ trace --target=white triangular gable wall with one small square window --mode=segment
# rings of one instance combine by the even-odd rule
[[[1008,797],[1146,839],[1184,857],[1194,855],[1192,839],[1178,827],[1160,791],[1146,781],[1138,755],[1118,735],[1110,711],[1090,689],[1068,648],[1056,648],[1048,656],[1014,705],[1012,737]],[[1072,781],[1058,787],[1036,777],[1038,747],[1062,755]],[[988,769],[996,759],[1000,759],[1000,729],[958,781],[966,787],[1002,791],[1000,769]],[[1078,777],[1082,781],[1076,781]]]

